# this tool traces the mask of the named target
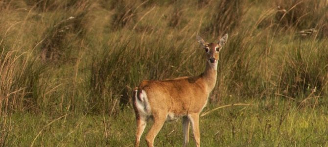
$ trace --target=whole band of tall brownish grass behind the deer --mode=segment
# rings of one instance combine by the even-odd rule
[[[323,97],[326,9],[307,0],[2,2],[1,64],[11,73],[1,74],[10,105],[1,101],[1,109],[118,113],[142,79],[200,74],[205,61],[196,34],[214,42],[226,32],[212,101],[302,101],[314,89]],[[313,35],[302,37],[308,28]]]

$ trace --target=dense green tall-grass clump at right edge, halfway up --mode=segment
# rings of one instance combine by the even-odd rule
[[[327,94],[327,44],[299,40],[299,44],[284,47],[281,89],[287,96]],[[287,51],[288,50],[288,51]]]

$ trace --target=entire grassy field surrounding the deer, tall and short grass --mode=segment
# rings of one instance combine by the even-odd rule
[[[201,145],[328,147],[327,11],[327,0],[2,0],[0,147],[132,147],[132,89],[202,73],[196,36],[225,33]],[[182,143],[181,120],[155,139]]]

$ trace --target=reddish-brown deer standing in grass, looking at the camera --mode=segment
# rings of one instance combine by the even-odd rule
[[[208,102],[216,84],[219,53],[227,42],[225,34],[217,43],[207,43],[200,36],[196,37],[206,53],[205,71],[197,76],[184,76],[165,80],[143,80],[134,88],[133,107],[137,120],[135,147],[139,147],[141,135],[147,121],[154,121],[145,139],[148,147],[154,146],[154,139],[166,121],[182,118],[184,142],[189,142],[189,128],[200,147],[199,116]]]

